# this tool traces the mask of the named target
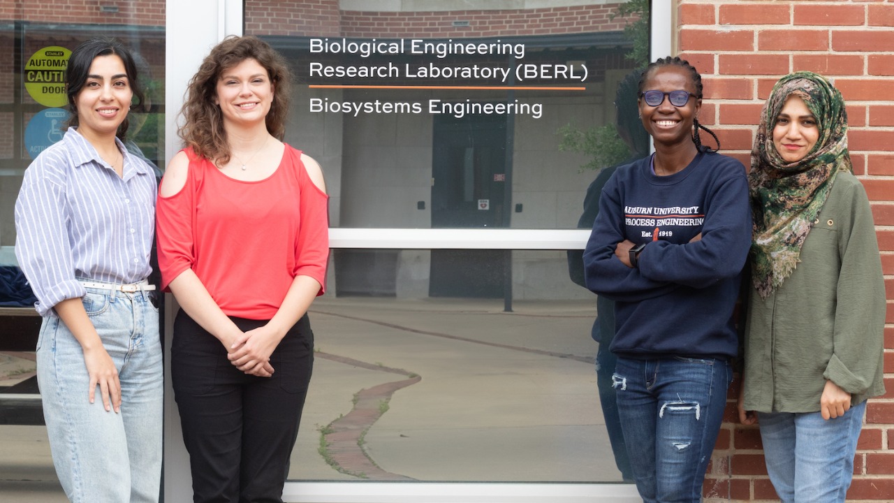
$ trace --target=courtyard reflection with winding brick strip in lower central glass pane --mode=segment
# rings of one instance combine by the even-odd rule
[[[596,392],[595,296],[566,252],[485,251],[511,268],[466,256],[510,275],[509,309],[478,295],[484,276],[429,294],[434,251],[337,252],[370,272],[311,308],[316,368],[291,479],[621,482]],[[336,282],[359,270],[340,264]]]

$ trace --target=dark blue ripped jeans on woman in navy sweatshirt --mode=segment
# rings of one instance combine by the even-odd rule
[[[732,379],[730,362],[618,358],[611,379],[640,497],[645,503],[700,501]]]

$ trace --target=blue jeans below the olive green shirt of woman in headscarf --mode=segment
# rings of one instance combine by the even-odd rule
[[[783,503],[845,500],[866,403],[835,419],[820,413],[757,413],[763,456]]]

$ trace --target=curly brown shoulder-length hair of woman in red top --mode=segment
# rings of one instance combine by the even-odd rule
[[[211,49],[190,80],[180,112],[183,124],[177,129],[184,145],[218,164],[229,162],[231,152],[223,129],[223,114],[215,104],[217,81],[224,71],[247,59],[254,59],[263,66],[274,86],[273,103],[266,115],[267,131],[277,140],[283,140],[285,135],[291,96],[289,64],[260,38],[250,35],[224,38]]]

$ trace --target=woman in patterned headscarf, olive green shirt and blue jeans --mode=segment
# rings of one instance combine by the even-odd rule
[[[780,79],[748,176],[752,289],[739,419],[783,502],[844,501],[866,398],[884,393],[885,290],[848,115],[821,75]]]

